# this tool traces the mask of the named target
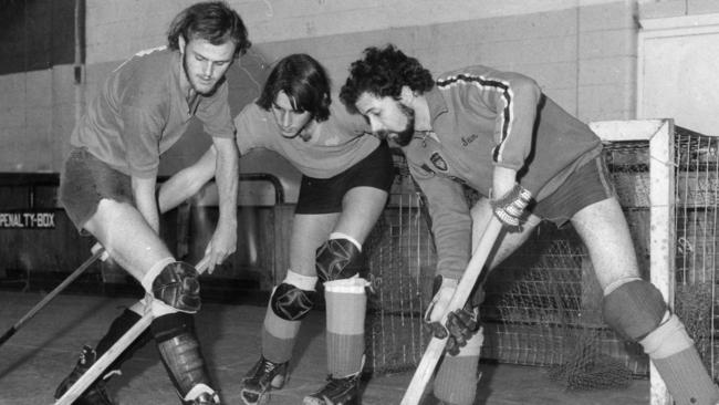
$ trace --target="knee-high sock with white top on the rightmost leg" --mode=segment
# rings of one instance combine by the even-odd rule
[[[639,341],[677,405],[715,405],[719,391],[676,315]]]

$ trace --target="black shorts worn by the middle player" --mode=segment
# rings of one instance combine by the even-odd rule
[[[342,212],[342,198],[352,188],[374,187],[389,193],[395,177],[392,153],[382,142],[364,159],[330,178],[302,176],[295,214]]]

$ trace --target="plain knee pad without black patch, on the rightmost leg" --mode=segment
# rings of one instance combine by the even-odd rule
[[[659,326],[667,304],[654,284],[631,279],[604,295],[602,312],[614,331],[635,342]]]

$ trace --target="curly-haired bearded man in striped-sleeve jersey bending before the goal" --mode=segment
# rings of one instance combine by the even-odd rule
[[[449,333],[463,344],[442,361],[434,382],[438,399],[457,405],[475,401],[481,332],[466,341],[463,333],[476,328],[473,320],[468,319],[467,328],[445,328],[439,321],[493,215],[506,230],[489,269],[514,251],[541,219],[558,226],[571,222],[604,291],[606,323],[642,344],[677,404],[717,404],[719,392],[682,323],[661,293],[639,277],[598,137],[532,79],[471,66],[434,80],[416,59],[388,45],[365,50],[364,59],[351,65],[341,98],[375,133],[403,146],[427,196],[438,255],[427,320],[437,336]],[[470,209],[462,186],[484,198]]]

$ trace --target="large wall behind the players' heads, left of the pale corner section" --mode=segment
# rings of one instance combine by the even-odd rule
[[[288,53],[313,54],[340,85],[363,48],[394,42],[434,72],[484,63],[532,75],[584,121],[632,118],[636,1],[231,0],[254,43],[235,66],[243,79],[236,82],[242,94],[233,110],[257,94],[268,65]],[[106,73],[134,52],[164,43],[171,17],[191,2],[86,0],[81,84],[73,83],[69,64],[1,75],[0,172],[60,170],[75,116]],[[168,155],[163,174],[201,152],[207,139],[194,139]],[[293,176],[281,162],[271,166]]]

